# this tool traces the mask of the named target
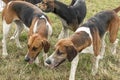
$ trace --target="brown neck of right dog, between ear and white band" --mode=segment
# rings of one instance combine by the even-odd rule
[[[73,34],[70,37],[70,39],[72,43],[74,44],[74,46],[76,47],[78,52],[82,51],[84,48],[92,44],[90,36],[84,31],[80,31],[80,32]]]

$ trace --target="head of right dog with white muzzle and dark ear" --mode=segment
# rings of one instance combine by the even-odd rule
[[[61,39],[55,45],[55,51],[51,56],[46,59],[46,64],[51,67],[57,67],[66,59],[72,61],[77,55],[77,50],[75,49],[72,41],[70,39]]]

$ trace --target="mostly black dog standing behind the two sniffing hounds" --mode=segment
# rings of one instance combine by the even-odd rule
[[[68,37],[69,30],[75,31],[86,16],[85,0],[72,0],[70,5],[58,0],[42,0],[40,8],[60,17],[63,27],[58,39]]]

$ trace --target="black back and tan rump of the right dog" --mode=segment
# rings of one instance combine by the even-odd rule
[[[89,27],[91,30],[98,29],[100,37],[103,37],[110,26],[114,25],[116,22],[119,25],[118,15],[116,14],[120,10],[118,10],[118,8],[113,10],[101,11],[95,16],[91,17],[86,23],[81,26]]]

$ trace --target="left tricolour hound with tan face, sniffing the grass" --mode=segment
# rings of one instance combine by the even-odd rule
[[[20,32],[23,30],[23,24],[29,28],[28,32],[28,53],[25,60],[33,62],[39,52],[44,48],[47,53],[50,47],[48,42],[49,36],[52,34],[52,27],[48,17],[35,5],[24,1],[9,2],[3,12],[3,56],[7,56],[6,38],[10,30],[12,22],[17,25],[17,33],[15,35],[16,45],[21,47],[19,42]]]

